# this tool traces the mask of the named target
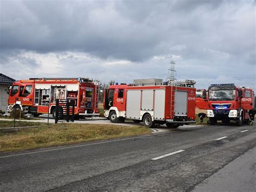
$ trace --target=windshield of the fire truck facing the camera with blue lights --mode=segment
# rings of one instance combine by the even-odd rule
[[[210,90],[210,101],[231,101],[235,98],[235,90]]]

